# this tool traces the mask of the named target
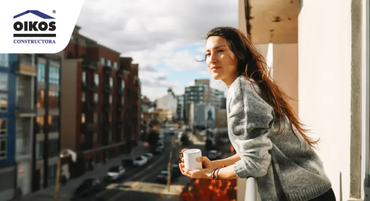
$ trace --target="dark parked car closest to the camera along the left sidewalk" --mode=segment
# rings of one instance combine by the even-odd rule
[[[93,197],[105,189],[105,186],[97,178],[88,178],[73,191],[71,200],[80,200],[81,198]]]

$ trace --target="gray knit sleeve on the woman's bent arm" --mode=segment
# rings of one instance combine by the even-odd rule
[[[254,87],[258,87],[254,84]],[[240,147],[241,160],[234,164],[238,177],[262,177],[271,163],[272,148],[268,135],[274,111],[252,88],[251,83],[238,84],[229,102],[231,137]]]

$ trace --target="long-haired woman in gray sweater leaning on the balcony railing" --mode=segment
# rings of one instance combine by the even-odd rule
[[[181,172],[190,178],[256,177],[262,200],[335,200],[313,150],[318,141],[305,134],[288,96],[268,76],[264,58],[247,37],[235,28],[214,28],[207,34],[205,57],[213,78],[229,88],[228,132],[237,154],[215,161],[200,157],[200,170],[185,169],[182,162]]]

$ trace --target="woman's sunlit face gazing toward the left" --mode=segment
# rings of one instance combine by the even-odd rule
[[[214,79],[220,79],[229,86],[238,76],[238,60],[224,38],[220,36],[209,37],[205,45],[205,57],[208,69]]]

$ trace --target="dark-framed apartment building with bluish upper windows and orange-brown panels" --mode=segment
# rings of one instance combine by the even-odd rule
[[[60,150],[60,92],[63,52],[36,54],[35,94],[36,118],[33,126],[32,191],[46,188],[55,182]],[[29,110],[32,110],[29,109]],[[27,125],[25,118],[22,126]]]

